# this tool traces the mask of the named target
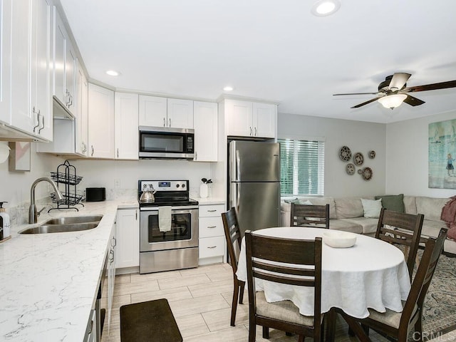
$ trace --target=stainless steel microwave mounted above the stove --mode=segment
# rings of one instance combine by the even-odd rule
[[[140,126],[140,159],[195,157],[195,130]]]

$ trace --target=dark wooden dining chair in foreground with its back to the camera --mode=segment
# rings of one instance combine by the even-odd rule
[[[323,341],[321,237],[316,237],[315,240],[284,239],[264,237],[248,230],[245,233],[245,243],[249,289],[249,342],[255,341],[257,325],[263,326],[263,338],[269,338],[269,328],[275,328],[298,334],[300,342],[304,341],[304,336],[311,336],[314,341]],[[268,303],[264,291],[256,291],[255,279],[313,287],[314,316],[299,314],[299,308],[291,301]]]

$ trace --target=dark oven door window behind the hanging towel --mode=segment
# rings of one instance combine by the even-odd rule
[[[192,214],[190,213],[172,214],[169,232],[160,232],[158,215],[149,215],[147,223],[149,243],[192,239]]]

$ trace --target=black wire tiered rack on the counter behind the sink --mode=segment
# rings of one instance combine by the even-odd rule
[[[51,199],[53,203],[57,204],[57,207],[49,209],[48,212],[53,209],[76,209],[76,211],[79,211],[74,206],[77,204],[84,206],[81,203],[84,196],[79,195],[76,190],[76,185],[81,182],[83,177],[76,175],[76,167],[71,165],[68,160],[58,165],[56,172],[51,172],[51,179],[56,182],[57,189],[61,192],[63,199],[57,199],[56,192],[52,192]],[[60,185],[65,187],[65,191],[60,189]]]

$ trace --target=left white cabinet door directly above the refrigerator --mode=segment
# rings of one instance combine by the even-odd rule
[[[227,135],[254,136],[252,102],[225,100],[224,109],[227,116]]]

